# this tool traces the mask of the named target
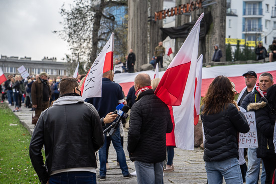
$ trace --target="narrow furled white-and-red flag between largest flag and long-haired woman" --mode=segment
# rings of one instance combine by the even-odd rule
[[[194,125],[197,125],[200,114],[200,100],[201,100],[201,83],[202,83],[202,61],[201,54],[197,59],[196,65],[196,83],[195,83],[195,99],[194,99]]]

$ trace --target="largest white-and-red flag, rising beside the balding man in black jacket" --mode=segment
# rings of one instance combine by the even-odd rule
[[[201,14],[180,50],[164,73],[155,94],[172,106],[175,142],[194,149],[194,95]]]

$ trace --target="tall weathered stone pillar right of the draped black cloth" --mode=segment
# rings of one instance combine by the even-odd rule
[[[217,4],[208,8],[212,12],[213,23],[206,35],[206,62],[211,62],[215,44],[219,45],[222,52],[221,62],[225,61],[225,22],[226,0],[216,0]]]

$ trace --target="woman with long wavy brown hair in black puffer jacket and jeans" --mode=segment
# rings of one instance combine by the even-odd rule
[[[227,77],[210,84],[201,107],[205,144],[204,161],[208,183],[243,183],[238,163],[238,135],[249,125],[234,101],[235,92]]]

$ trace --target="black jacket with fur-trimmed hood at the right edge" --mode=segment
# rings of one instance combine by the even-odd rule
[[[258,138],[257,157],[276,159],[273,144],[276,111],[272,110],[271,107],[267,105],[267,101],[264,97],[261,98],[259,103],[249,104],[248,110],[255,111]]]

